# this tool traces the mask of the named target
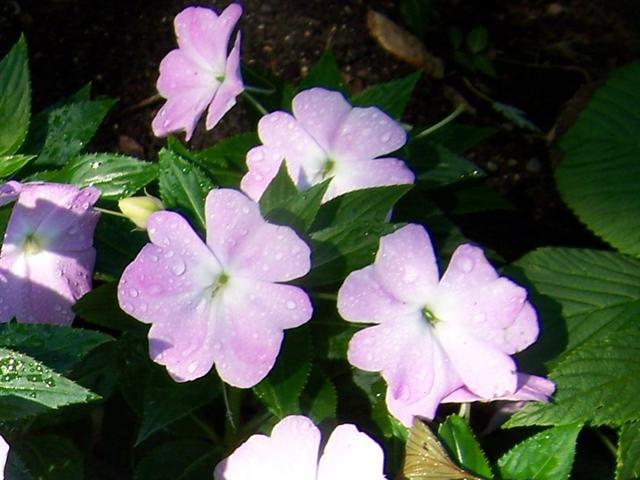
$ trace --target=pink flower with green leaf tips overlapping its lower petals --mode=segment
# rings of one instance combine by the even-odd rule
[[[258,122],[262,145],[247,153],[242,190],[258,200],[286,160],[299,190],[331,178],[322,199],[363,188],[413,183],[402,160],[378,158],[402,147],[402,127],[376,107],[351,107],[339,92],[312,88],[292,102],[293,115],[273,112]]]

